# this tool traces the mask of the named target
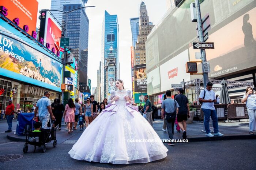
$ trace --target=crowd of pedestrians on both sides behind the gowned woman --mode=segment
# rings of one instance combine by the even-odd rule
[[[208,82],[205,89],[201,90],[199,95],[199,102],[202,103],[202,110],[204,113],[204,128],[207,137],[223,136],[219,132],[218,117],[214,104],[219,104],[219,95],[215,95],[215,92],[211,90],[212,83]],[[184,95],[183,88],[178,89],[178,94],[171,97],[171,91],[167,90],[163,96],[161,116],[163,119],[162,130],[167,132],[170,139],[173,139],[174,124],[176,125],[177,133],[182,133],[182,138],[187,138],[187,123],[186,121],[190,117],[189,114],[189,102],[188,98]],[[50,120],[53,122],[53,127],[57,127],[61,130],[61,122],[64,118],[64,122],[67,125],[66,130],[71,133],[73,130],[77,130],[79,125],[80,130],[84,130],[89,126],[91,122],[105,109],[108,105],[108,99],[103,99],[101,103],[94,100],[94,95],[85,100],[86,103],[79,103],[78,99],[69,99],[68,103],[64,106],[60,99],[54,99],[51,104],[49,99],[50,93],[46,91],[44,96],[33,104],[31,112],[34,113],[34,120],[41,121],[42,129],[48,129],[50,127]],[[146,118],[148,123],[153,127],[154,115],[157,112],[148,95],[144,96],[145,105],[142,107],[140,104],[139,111]],[[249,115],[249,134],[254,134],[256,130],[256,95],[253,92],[252,87],[246,88],[245,95],[242,98],[242,103],[246,103],[246,107]],[[12,100],[9,100],[9,104],[5,109],[0,110],[0,119],[7,119],[8,130],[12,131],[12,119],[16,117],[23,110],[15,111]],[[214,133],[212,134],[209,127],[210,118],[212,119],[212,125]],[[168,145],[174,146],[174,143]]]

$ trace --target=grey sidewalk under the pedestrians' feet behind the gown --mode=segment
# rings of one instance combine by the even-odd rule
[[[159,135],[160,139],[169,139],[168,133],[162,131],[163,120],[155,119],[153,122],[154,130]],[[78,126],[79,127],[79,126]],[[202,132],[204,128],[203,122],[193,121],[193,123],[187,124],[187,139],[189,142],[200,141],[215,141],[215,140],[230,140],[230,139],[256,139],[256,135],[249,134],[249,122],[247,119],[241,119],[240,122],[219,122],[219,132],[224,134],[223,137],[206,137]],[[213,130],[211,124],[210,129]],[[64,123],[62,124],[61,131],[57,130],[57,143],[74,144],[80,137],[83,131],[74,130],[73,133],[67,134]],[[256,132],[255,132],[256,133]],[[14,133],[8,133],[7,138],[12,141],[25,142],[26,136],[14,135]],[[182,139],[182,133],[177,133],[174,126],[174,139]]]

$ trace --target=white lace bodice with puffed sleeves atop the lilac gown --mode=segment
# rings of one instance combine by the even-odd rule
[[[126,105],[127,100],[124,99],[124,96],[128,96],[131,101],[133,101],[131,96],[131,90],[125,91],[125,90],[117,90],[117,91],[111,91],[111,95],[109,96],[108,101],[112,100],[114,96],[118,96],[119,99],[116,100],[117,105]],[[132,104],[132,103],[131,103]]]

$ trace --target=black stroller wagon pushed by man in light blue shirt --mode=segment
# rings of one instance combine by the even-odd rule
[[[34,153],[36,147],[41,147],[42,152],[45,153],[46,151],[46,143],[53,141],[53,147],[56,147],[57,140],[56,140],[56,128],[52,127],[51,129],[42,129],[41,132],[33,132],[32,128],[29,125],[25,127],[26,131],[26,143],[23,147],[23,152],[27,153],[29,149],[28,144],[34,145]]]

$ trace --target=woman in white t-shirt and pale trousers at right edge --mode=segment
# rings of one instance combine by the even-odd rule
[[[242,102],[246,104],[249,115],[249,134],[253,135],[256,130],[256,94],[253,93],[252,87],[247,87]]]

